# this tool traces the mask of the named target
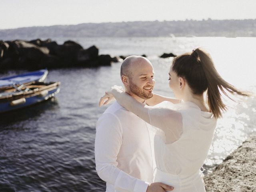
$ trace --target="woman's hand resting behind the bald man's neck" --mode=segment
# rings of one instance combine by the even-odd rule
[[[123,88],[121,86],[114,85],[111,87],[109,91],[105,92],[105,95],[100,98],[99,106],[107,105],[111,101],[115,100],[115,97],[117,94],[124,92]]]

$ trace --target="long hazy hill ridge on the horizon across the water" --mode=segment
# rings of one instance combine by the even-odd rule
[[[0,30],[0,40],[74,37],[256,37],[256,19],[85,23]]]

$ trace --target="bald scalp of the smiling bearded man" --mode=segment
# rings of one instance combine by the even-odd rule
[[[121,77],[125,75],[128,78],[132,78],[132,68],[136,67],[138,63],[145,62],[145,61],[150,63],[148,59],[142,56],[132,55],[132,56],[126,57],[126,59],[123,61],[121,65],[121,70],[120,70]]]

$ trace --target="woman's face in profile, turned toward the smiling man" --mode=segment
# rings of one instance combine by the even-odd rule
[[[181,96],[181,89],[180,89],[180,78],[177,76],[177,74],[172,71],[172,67],[170,68],[170,72],[169,72],[169,86],[172,89],[175,97],[177,99],[182,99]]]

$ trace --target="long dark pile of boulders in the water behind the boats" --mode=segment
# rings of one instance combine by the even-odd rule
[[[71,40],[62,45],[51,39],[0,41],[0,70],[110,66],[116,61],[98,53],[96,46],[84,49]]]

